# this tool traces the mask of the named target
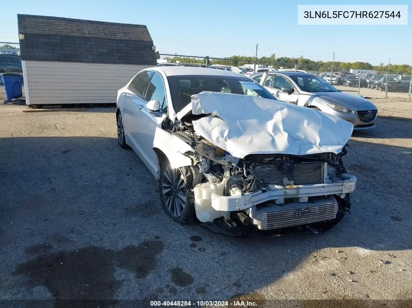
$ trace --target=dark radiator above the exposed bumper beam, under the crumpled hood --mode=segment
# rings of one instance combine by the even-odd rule
[[[285,173],[278,164],[258,164],[252,167],[255,176],[267,184],[284,185]],[[293,169],[294,185],[320,184],[323,180],[321,162],[295,163]]]

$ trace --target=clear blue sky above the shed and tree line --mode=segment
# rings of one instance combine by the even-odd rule
[[[394,2],[394,3],[392,3]],[[276,54],[314,60],[412,65],[412,21],[392,26],[297,25],[298,4],[411,4],[401,1],[2,0],[0,41],[18,42],[17,14],[147,25],[157,51],[230,56]]]

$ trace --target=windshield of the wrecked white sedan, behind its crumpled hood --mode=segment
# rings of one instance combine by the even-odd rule
[[[249,78],[186,75],[169,76],[167,79],[175,112],[186,107],[193,94],[203,91],[243,94],[276,100],[269,91]]]

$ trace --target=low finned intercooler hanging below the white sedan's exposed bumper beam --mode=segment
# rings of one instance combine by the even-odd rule
[[[336,217],[334,197],[315,202],[290,202],[282,206],[267,205],[252,209],[250,217],[260,230],[271,230],[330,220]]]

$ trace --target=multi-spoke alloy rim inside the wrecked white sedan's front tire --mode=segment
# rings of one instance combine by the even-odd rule
[[[163,175],[161,189],[166,208],[170,215],[179,217],[186,205],[185,182],[178,168],[171,169],[168,166]]]

